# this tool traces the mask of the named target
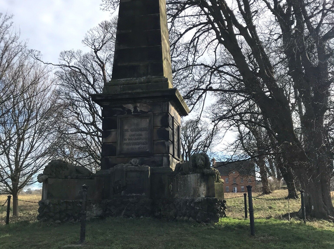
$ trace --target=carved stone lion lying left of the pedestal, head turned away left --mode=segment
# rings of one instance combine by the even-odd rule
[[[43,174],[37,176],[37,180],[43,182],[47,178],[87,179],[91,178],[92,174],[83,166],[72,165],[64,160],[51,160],[45,166]]]

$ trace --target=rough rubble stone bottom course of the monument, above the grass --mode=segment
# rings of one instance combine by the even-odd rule
[[[80,220],[81,200],[41,200],[38,202],[39,221],[68,222]],[[88,200],[87,219],[103,217],[155,217],[169,220],[218,222],[225,216],[225,200],[214,197],[171,199]]]

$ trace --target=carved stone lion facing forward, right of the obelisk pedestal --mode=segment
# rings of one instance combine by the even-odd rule
[[[205,174],[216,175],[213,168],[210,167],[210,159],[207,154],[197,153],[190,156],[189,161],[177,163],[174,175],[181,174]]]

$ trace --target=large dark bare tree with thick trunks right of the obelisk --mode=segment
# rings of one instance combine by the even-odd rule
[[[254,102],[268,122],[255,125],[271,133],[285,163],[298,175],[307,213],[333,219],[332,144],[325,119],[332,110],[333,3],[167,3],[173,57],[183,61],[176,64],[175,75],[191,80],[187,85],[180,81],[185,97],[195,103],[207,91],[216,93],[221,112],[215,119],[221,121],[233,115],[243,118],[245,103]],[[234,99],[233,106],[225,106],[224,99]]]

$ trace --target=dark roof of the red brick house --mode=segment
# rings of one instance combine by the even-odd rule
[[[237,171],[241,175],[255,175],[254,161],[240,162],[216,162],[215,166],[221,175],[228,175],[232,171]]]

